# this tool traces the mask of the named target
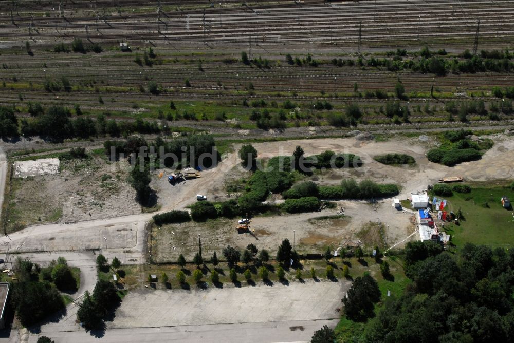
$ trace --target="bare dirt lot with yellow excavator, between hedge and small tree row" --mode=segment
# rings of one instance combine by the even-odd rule
[[[378,231],[377,219],[384,235],[389,231],[388,246],[407,237],[415,230],[410,222],[411,214],[397,211],[390,201],[377,204],[377,212],[365,201],[338,201],[338,208],[345,209],[346,216],[338,215],[338,208],[321,212],[255,217],[250,223],[251,233],[237,233],[237,219],[210,220],[205,223],[181,223],[163,225],[152,229],[152,256],[158,263],[175,262],[180,254],[192,260],[198,252],[198,235],[205,256],[221,252],[227,245],[245,249],[253,243],[259,250],[277,253],[283,239],[289,239],[299,253],[321,254],[326,247],[339,249],[359,243],[366,246],[384,246]],[[376,228],[368,235],[360,234],[366,225]]]

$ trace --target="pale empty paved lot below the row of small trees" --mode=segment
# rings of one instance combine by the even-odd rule
[[[338,318],[349,282],[291,282],[288,286],[132,291],[108,328],[161,327]]]

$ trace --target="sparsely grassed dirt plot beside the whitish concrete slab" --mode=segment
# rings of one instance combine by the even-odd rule
[[[115,167],[115,168],[114,168]],[[60,174],[13,179],[9,229],[31,224],[113,218],[141,212],[126,162],[103,156],[61,161]]]

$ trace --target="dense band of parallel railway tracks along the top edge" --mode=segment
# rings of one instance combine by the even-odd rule
[[[480,18],[483,39],[511,44],[514,35],[514,10],[509,1],[494,2],[492,6],[490,2],[467,1],[461,2],[462,8],[439,0],[408,3],[382,0],[378,6],[371,1],[336,5],[317,0],[271,5],[258,2],[256,5],[94,18],[31,18],[4,14],[0,16],[0,22],[4,22],[0,30],[5,37],[13,38],[27,37],[26,27],[33,25],[31,35],[36,39],[81,37],[217,44],[246,44],[251,33],[255,43],[260,44],[344,42],[355,45],[362,22],[364,44],[388,45],[419,40],[470,41],[474,38],[476,20]],[[89,26],[87,32],[86,25]]]

